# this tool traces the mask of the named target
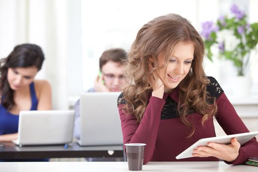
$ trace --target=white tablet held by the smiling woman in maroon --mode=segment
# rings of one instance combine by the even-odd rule
[[[236,138],[236,140],[242,145],[247,141],[249,141],[250,139],[254,138],[256,135],[258,135],[258,131],[200,139],[199,141],[197,141],[196,143],[192,144],[190,147],[185,149],[183,152],[181,152],[179,155],[177,155],[175,158],[176,159],[190,158],[192,157],[194,149],[196,149],[198,146],[205,146],[207,145],[207,143],[210,143],[210,142],[229,144],[231,143],[231,139]]]

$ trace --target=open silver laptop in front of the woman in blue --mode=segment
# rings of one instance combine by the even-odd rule
[[[71,143],[73,139],[74,110],[21,111],[17,145]]]

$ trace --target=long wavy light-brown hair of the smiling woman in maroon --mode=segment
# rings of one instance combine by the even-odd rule
[[[123,90],[126,100],[126,106],[123,110],[127,114],[134,114],[138,122],[142,120],[148,104],[148,95],[152,91],[149,85],[149,74],[167,67],[173,49],[179,42],[193,43],[195,46],[191,69],[178,85],[179,103],[177,107],[182,122],[191,129],[189,134],[189,137],[191,137],[195,128],[186,118],[189,110],[194,109],[202,114],[201,122],[204,124],[206,119],[216,114],[217,106],[215,100],[213,101],[206,93],[209,80],[205,77],[202,68],[204,56],[202,38],[187,19],[177,14],[157,17],[139,30],[126,62],[125,76],[128,86]],[[161,52],[165,54],[165,64],[158,66],[157,56]],[[152,71],[148,67],[149,57],[154,58]]]

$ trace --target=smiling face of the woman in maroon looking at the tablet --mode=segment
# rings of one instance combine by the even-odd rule
[[[194,59],[194,51],[193,43],[179,42],[176,44],[167,68],[158,70],[158,74],[165,85],[165,92],[172,92],[172,89],[186,77]],[[158,65],[162,66],[164,63],[164,54],[160,53],[158,55]]]

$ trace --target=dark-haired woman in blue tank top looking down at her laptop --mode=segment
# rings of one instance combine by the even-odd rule
[[[0,60],[0,142],[17,139],[20,111],[52,109],[50,84],[34,80],[44,59],[39,46],[22,44]]]

